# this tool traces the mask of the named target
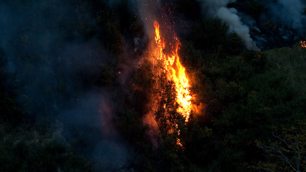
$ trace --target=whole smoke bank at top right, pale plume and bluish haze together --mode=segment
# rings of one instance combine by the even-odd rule
[[[231,31],[237,32],[243,38],[247,47],[257,44],[258,48],[266,49],[269,43],[276,44],[277,47],[288,46],[290,42],[305,36],[305,2],[299,0],[199,2],[204,16],[222,17],[231,26]],[[274,27],[278,32],[271,33]]]

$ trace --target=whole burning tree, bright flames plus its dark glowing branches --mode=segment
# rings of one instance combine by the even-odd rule
[[[158,140],[172,140],[174,147],[183,148],[179,135],[181,129],[185,128],[185,123],[188,122],[192,97],[189,95],[185,68],[181,65],[177,54],[179,41],[174,37],[176,42],[166,46],[166,42],[160,35],[157,21],[154,22],[154,27],[156,45],[149,62],[153,95],[151,118],[154,119],[156,129],[159,130],[158,134],[154,133]]]

